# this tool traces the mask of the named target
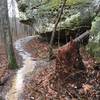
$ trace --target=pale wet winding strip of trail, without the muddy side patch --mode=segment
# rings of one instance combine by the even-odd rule
[[[13,99],[18,100],[19,99],[21,93],[23,92],[24,77],[28,72],[30,72],[34,69],[36,62],[32,60],[31,54],[26,52],[24,49],[25,44],[28,43],[28,41],[30,41],[31,39],[33,39],[33,36],[21,38],[21,39],[17,40],[14,44],[14,47],[15,47],[16,51],[18,52],[18,55],[22,57],[23,65],[22,65],[22,68],[20,68],[16,72],[16,75],[14,76],[14,79],[12,81],[12,87],[8,91],[8,93],[5,97],[6,100],[13,100]],[[29,68],[29,67],[31,67],[31,68]]]

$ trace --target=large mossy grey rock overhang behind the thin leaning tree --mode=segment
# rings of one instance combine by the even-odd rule
[[[92,0],[67,0],[58,28],[73,29],[90,23],[92,4]],[[20,20],[30,25],[35,23],[39,32],[52,31],[61,5],[62,0],[18,0]]]

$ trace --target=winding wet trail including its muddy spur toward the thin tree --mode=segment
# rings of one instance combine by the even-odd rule
[[[31,72],[36,72],[38,67],[42,69],[42,66],[46,66],[48,62],[43,60],[37,60],[32,57],[32,54],[26,51],[25,45],[28,44],[31,40],[38,39],[39,36],[28,36],[17,40],[14,44],[14,47],[18,55],[22,58],[21,68],[16,72],[13,80],[12,87],[6,95],[6,100],[22,100],[23,88],[24,88],[24,79],[25,76]]]

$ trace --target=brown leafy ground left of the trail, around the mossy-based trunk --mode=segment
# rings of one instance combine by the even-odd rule
[[[10,79],[14,73],[15,71],[9,69],[4,45],[0,43],[0,100],[5,97],[7,90],[10,88]]]

